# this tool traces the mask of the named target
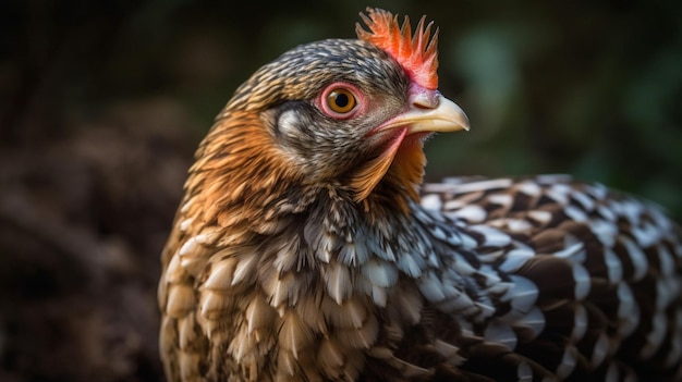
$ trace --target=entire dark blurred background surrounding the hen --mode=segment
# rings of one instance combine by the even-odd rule
[[[284,50],[382,7],[440,26],[472,131],[429,178],[571,173],[682,220],[682,4],[0,2],[0,380],[159,381],[159,252],[193,151]]]

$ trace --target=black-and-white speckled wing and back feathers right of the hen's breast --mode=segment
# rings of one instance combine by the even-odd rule
[[[448,178],[423,192],[426,210],[475,241],[475,269],[514,280],[510,303],[468,320],[476,335],[559,380],[680,378],[681,231],[660,208],[564,175]]]

